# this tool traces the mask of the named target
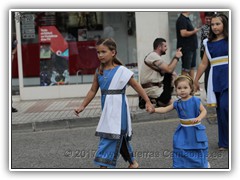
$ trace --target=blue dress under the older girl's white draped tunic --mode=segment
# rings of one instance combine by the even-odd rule
[[[101,90],[107,90],[112,81],[112,78],[120,66],[116,66],[110,70],[104,70],[103,75],[98,75],[98,83]],[[125,87],[126,88],[126,87]],[[107,95],[101,96],[102,110]],[[100,136],[98,150],[95,155],[94,162],[99,166],[114,168],[116,166],[119,154],[122,155],[125,161],[132,163],[134,160],[132,146],[127,138],[127,106],[125,94],[122,94],[122,113],[121,113],[121,135],[120,139],[108,139]]]

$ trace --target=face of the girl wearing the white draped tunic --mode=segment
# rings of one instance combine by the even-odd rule
[[[112,61],[113,56],[116,55],[115,51],[111,51],[107,46],[99,45],[97,48],[97,56],[101,63],[108,63]]]

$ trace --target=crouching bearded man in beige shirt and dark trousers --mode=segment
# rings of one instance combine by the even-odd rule
[[[167,64],[161,59],[161,56],[166,54],[166,51],[166,40],[156,38],[153,42],[153,51],[145,57],[140,71],[140,83],[152,103],[156,104],[157,107],[171,103],[172,76],[179,58],[182,57],[181,48],[179,48],[172,61]],[[141,109],[145,108],[145,102],[141,98],[139,98],[139,107]]]

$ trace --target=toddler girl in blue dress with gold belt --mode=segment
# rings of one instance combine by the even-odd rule
[[[193,80],[181,75],[174,81],[178,96],[173,104],[155,108],[156,113],[175,109],[179,125],[173,136],[173,168],[208,168],[208,139],[201,120],[207,111],[201,100],[193,96]]]

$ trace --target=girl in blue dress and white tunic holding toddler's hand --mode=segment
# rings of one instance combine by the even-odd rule
[[[129,168],[138,168],[130,144],[132,136],[131,117],[126,86],[129,84],[147,101],[146,110],[154,110],[147,94],[133,78],[132,71],[122,66],[116,58],[116,43],[112,39],[101,39],[96,45],[101,65],[94,75],[90,91],[83,103],[75,109],[78,115],[95,97],[99,87],[101,89],[102,114],[96,129],[96,136],[100,137],[98,150],[94,159],[101,168],[115,167],[119,154],[129,162]]]

